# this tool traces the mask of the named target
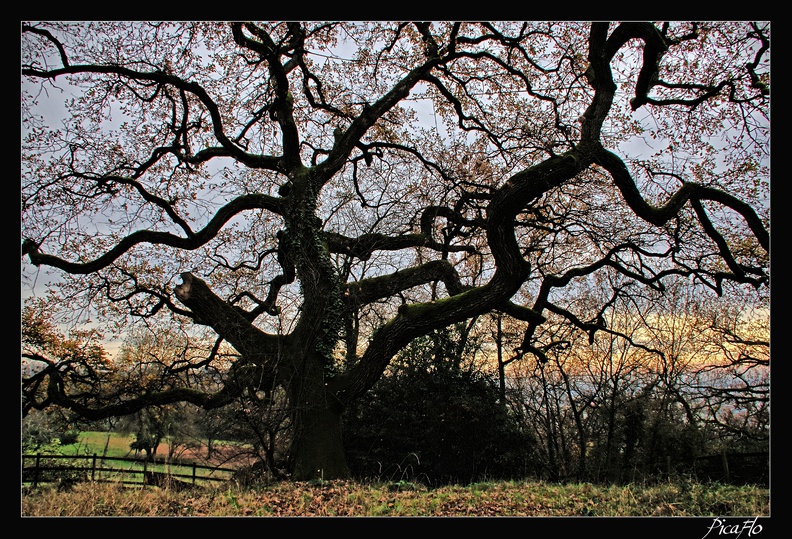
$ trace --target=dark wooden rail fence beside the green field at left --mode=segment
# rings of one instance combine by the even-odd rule
[[[186,488],[228,481],[234,468],[151,462],[101,455],[22,455],[22,484],[72,484],[80,481],[132,486]]]

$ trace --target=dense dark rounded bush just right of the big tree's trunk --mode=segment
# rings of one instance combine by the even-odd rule
[[[344,445],[356,478],[436,485],[525,476],[533,441],[499,402],[497,385],[439,366],[443,359],[397,367],[346,411]]]

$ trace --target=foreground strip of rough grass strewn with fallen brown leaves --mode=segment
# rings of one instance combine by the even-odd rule
[[[82,483],[23,491],[23,516],[769,516],[769,490],[751,486],[557,485],[492,482],[279,483],[177,492]]]

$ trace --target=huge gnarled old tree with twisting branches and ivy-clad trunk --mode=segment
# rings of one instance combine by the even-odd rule
[[[542,359],[551,314],[593,339],[669,276],[768,282],[767,23],[21,31],[25,276],[57,272],[73,323],[204,328],[184,369],[235,353],[210,391],[80,392],[50,369],[39,406],[283,394],[291,476],[344,477],[344,408],[416,338],[504,312]],[[594,277],[603,302],[564,301]]]

